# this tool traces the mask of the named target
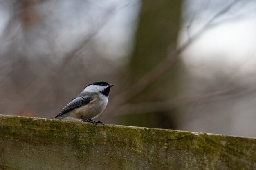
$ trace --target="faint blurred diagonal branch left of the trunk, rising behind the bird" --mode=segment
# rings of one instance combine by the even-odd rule
[[[63,68],[65,68],[65,66],[70,63],[70,61],[78,57],[85,48],[85,46],[92,42],[92,39],[95,38],[99,31],[101,31],[101,29],[106,25],[114,12],[115,7],[106,9],[106,12],[102,16],[102,18],[105,19],[101,20],[101,22],[98,22],[97,29],[94,29],[84,38],[81,38],[81,42],[74,46],[74,48],[72,48],[69,52],[64,54],[64,56],[61,57],[60,62],[57,62],[57,64],[53,65],[52,68],[48,69],[48,71],[44,74],[39,75],[33,82],[31,82],[31,84],[27,86],[27,88],[23,89],[20,93],[16,93],[16,98],[21,98],[24,96],[25,98],[23,98],[23,100],[19,100],[15,106],[9,106],[6,113],[18,113],[19,110],[26,106],[28,102],[37,97],[38,94],[41,93],[41,90],[45,88],[47,84],[49,84],[49,82],[53,81],[54,77],[56,77],[56,75],[58,75],[58,73],[62,71]],[[9,24],[7,25],[7,27],[9,27]]]

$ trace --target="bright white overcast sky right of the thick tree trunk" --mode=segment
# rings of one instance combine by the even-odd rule
[[[187,40],[186,25],[191,23],[190,35],[193,35],[216,13],[230,4],[231,0],[187,0],[184,3],[184,28],[181,29],[180,43]],[[184,52],[184,62],[191,71],[202,68],[219,69],[212,64],[226,67],[239,66],[240,73],[256,71],[256,1],[243,0],[229,9],[213,22],[213,27]],[[193,16],[193,17],[192,17]],[[190,22],[193,20],[193,22]],[[198,69],[199,68],[199,69]]]

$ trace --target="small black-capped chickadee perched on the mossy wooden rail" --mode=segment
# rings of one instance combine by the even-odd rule
[[[98,117],[108,104],[108,93],[114,84],[95,82],[88,84],[54,119],[85,121],[97,126],[101,121],[92,119]]]

